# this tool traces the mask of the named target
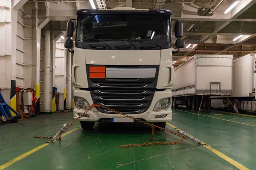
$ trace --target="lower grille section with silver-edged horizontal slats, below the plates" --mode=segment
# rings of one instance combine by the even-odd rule
[[[149,89],[138,90],[133,87],[128,88],[128,86],[123,85],[115,85],[115,87],[115,89],[102,88],[101,90],[97,89],[91,91],[93,102],[128,114],[138,114],[148,110],[154,96],[154,91]],[[103,108],[97,109],[102,113],[113,114],[113,112],[107,111]]]

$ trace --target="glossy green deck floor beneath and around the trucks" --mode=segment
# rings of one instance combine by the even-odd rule
[[[256,118],[221,111],[192,114],[173,110],[172,125],[200,139],[248,169],[256,169]],[[210,116],[210,117],[209,117]],[[218,118],[218,119],[215,119]],[[229,121],[228,121],[229,120]],[[44,144],[73,113],[54,113],[0,124],[1,165]],[[232,121],[232,122],[230,122]],[[80,126],[79,122],[69,130]],[[176,131],[171,126],[168,129]],[[120,148],[123,144],[151,142],[151,128],[126,124],[96,124],[94,131],[81,128],[36,152],[12,162],[5,170],[233,170],[230,164],[204,146],[190,140],[175,145]],[[179,137],[157,131],[157,142]]]

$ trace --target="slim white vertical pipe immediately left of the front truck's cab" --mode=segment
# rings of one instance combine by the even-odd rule
[[[72,109],[71,53],[67,52],[67,109]]]

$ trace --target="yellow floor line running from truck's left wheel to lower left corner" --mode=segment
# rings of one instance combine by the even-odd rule
[[[73,131],[78,130],[80,127],[81,127],[81,126],[76,127],[76,128],[74,128],[74,129],[68,131],[67,133],[64,133],[63,135],[61,135],[61,137],[64,137],[64,136],[66,136],[66,135],[72,133]],[[55,141],[56,141],[56,140],[54,140],[53,142],[55,142]],[[32,149],[32,150],[29,150],[28,152],[26,152],[26,153],[24,153],[24,154],[22,154],[22,155],[16,157],[15,159],[12,159],[11,161],[6,162],[5,164],[2,164],[2,165],[0,166],[0,170],[3,170],[3,169],[5,169],[6,167],[9,167],[10,165],[14,164],[15,162],[19,161],[20,159],[23,159],[23,158],[25,158],[26,156],[29,156],[30,154],[32,154],[32,153],[34,153],[34,152],[40,150],[40,149],[43,148],[43,147],[46,147],[47,145],[49,145],[49,143],[41,144],[40,146],[38,146],[38,147],[36,147],[36,148],[34,148],[34,149]]]

